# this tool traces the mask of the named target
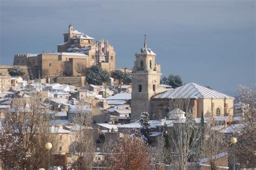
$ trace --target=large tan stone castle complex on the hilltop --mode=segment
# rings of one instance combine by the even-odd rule
[[[64,43],[57,45],[57,53],[17,54],[14,65],[35,66],[41,77],[81,76],[84,69],[98,64],[107,71],[116,69],[116,53],[107,40],[85,35],[69,25]]]

